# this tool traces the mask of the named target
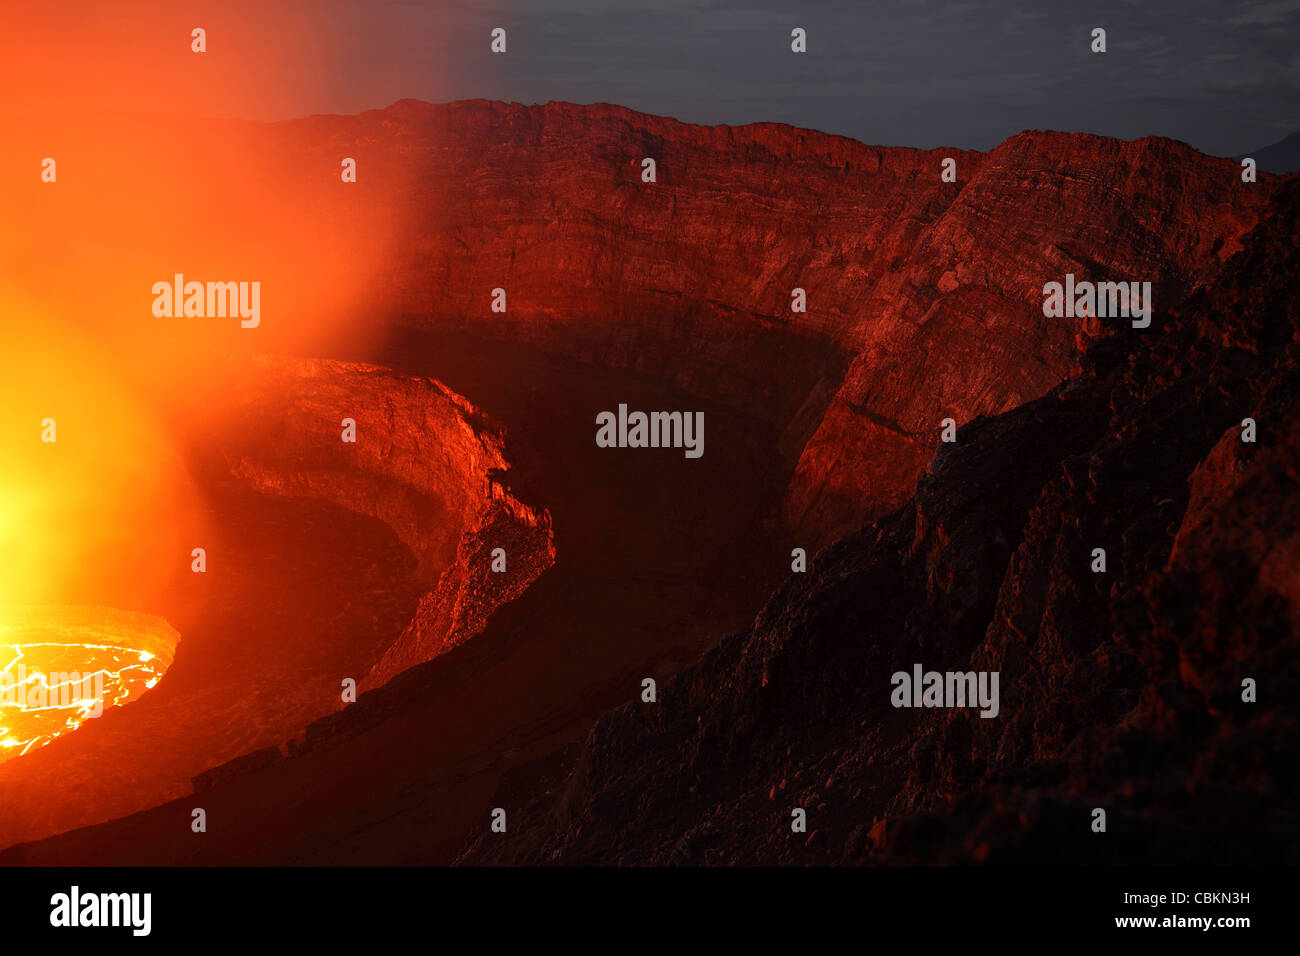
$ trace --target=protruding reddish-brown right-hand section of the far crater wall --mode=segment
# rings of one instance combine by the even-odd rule
[[[900,503],[939,424],[1013,408],[1076,368],[1082,321],[1045,319],[1065,273],[1143,278],[1153,329],[1240,248],[1271,191],[1179,143],[1023,133],[980,164],[906,263],[800,459],[792,520],[819,540]]]

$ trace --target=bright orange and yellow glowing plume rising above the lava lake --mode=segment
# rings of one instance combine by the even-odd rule
[[[400,185],[385,157],[328,121],[200,118],[300,101],[329,82],[338,42],[308,3],[72,3],[6,23],[0,605],[161,610],[186,593],[211,537],[188,462],[231,363],[376,334],[367,306]],[[156,316],[152,286],[176,273],[260,282],[260,325]]]

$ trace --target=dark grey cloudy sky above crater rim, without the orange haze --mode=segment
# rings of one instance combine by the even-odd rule
[[[1300,129],[1300,0],[533,0],[335,4],[344,103],[612,101],[702,124],[788,122],[987,148],[1022,129],[1160,134],[1213,153]],[[504,57],[488,52],[508,30]],[[802,26],[809,52],[790,52]],[[1095,26],[1109,52],[1089,52]],[[355,57],[355,59],[354,59]],[[436,59],[441,77],[421,66]],[[374,73],[368,64],[386,62]],[[413,83],[393,82],[406,74]]]

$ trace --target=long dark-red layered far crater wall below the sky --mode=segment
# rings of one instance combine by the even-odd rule
[[[798,462],[785,511],[811,545],[897,506],[944,418],[1006,411],[1076,369],[1087,337],[1043,317],[1044,282],[1150,281],[1160,325],[1275,182],[1164,139],[918,151],[610,105],[404,100],[283,133],[400,183],[415,215],[390,310],[758,412]]]

